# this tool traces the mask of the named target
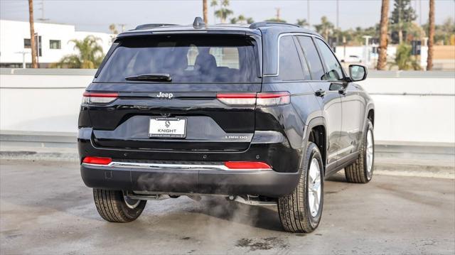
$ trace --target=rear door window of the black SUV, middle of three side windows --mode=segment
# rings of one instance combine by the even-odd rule
[[[313,40],[308,36],[297,36],[304,52],[306,64],[311,72],[311,80],[324,80],[324,70]]]

